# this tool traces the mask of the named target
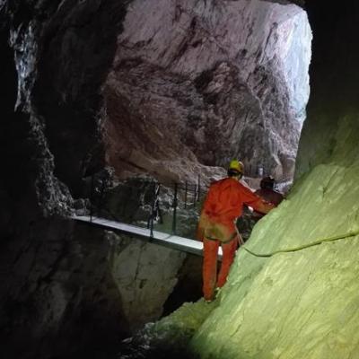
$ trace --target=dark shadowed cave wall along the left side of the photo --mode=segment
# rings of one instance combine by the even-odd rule
[[[127,333],[117,287],[99,266],[101,245],[93,255],[92,236],[66,219],[83,174],[103,163],[99,86],[125,12],[123,3],[103,3],[0,4],[0,330],[8,358],[78,357],[100,343],[111,352]]]

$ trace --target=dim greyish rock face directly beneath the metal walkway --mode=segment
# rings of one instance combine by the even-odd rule
[[[111,273],[130,330],[158,320],[186,254],[109,234]]]

